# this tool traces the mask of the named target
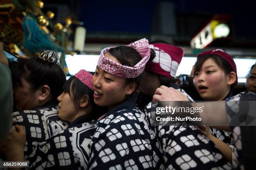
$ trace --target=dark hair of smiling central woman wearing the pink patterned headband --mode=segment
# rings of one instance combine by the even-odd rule
[[[113,55],[118,60],[118,62],[120,62],[121,65],[129,66],[129,67],[134,67],[134,65],[136,65],[142,59],[138,51],[128,46],[113,47],[113,48],[110,48],[108,52],[111,55]],[[136,82],[137,86],[134,92],[138,89],[141,83],[143,73],[144,71],[141,73],[141,75],[135,78],[125,78],[127,83]]]

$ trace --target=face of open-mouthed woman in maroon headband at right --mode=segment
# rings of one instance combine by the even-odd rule
[[[201,68],[194,75],[197,92],[205,100],[223,100],[230,91],[228,75],[211,58],[205,60]]]

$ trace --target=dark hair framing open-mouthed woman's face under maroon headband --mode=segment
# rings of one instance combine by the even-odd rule
[[[233,71],[229,63],[223,57],[220,57],[219,55],[207,54],[200,56],[197,59],[194,67],[194,75],[196,72],[199,72],[202,69],[203,63],[209,58],[211,58],[221,68],[221,70],[225,72],[226,75]],[[234,84],[230,86],[230,89],[232,90],[233,87]]]

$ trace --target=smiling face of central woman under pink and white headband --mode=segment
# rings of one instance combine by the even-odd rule
[[[105,57],[118,62],[110,53],[106,53]],[[95,104],[107,106],[109,110],[122,103],[128,95],[128,84],[125,78],[105,72],[98,66],[93,75],[92,84],[95,90],[93,95]]]

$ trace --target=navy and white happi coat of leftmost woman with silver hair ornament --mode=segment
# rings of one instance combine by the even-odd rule
[[[25,158],[46,139],[68,127],[68,123],[58,117],[58,106],[49,104],[33,110],[13,112],[16,124],[23,125],[26,130]]]

